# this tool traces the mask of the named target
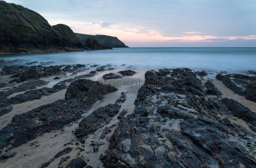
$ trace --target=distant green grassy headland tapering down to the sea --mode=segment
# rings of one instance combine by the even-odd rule
[[[84,41],[87,40],[87,38],[95,38],[100,45],[102,46],[108,46],[108,47],[128,47],[125,46],[125,44],[120,41],[117,37],[112,37],[112,36],[106,36],[106,35],[88,35],[88,34],[80,34],[80,33],[75,33],[77,37],[79,38],[80,42],[84,45]]]

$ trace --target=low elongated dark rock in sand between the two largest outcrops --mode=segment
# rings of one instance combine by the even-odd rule
[[[120,108],[121,106],[118,104],[108,104],[105,107],[94,110],[92,114],[80,121],[75,135],[78,138],[83,138],[86,135],[94,133],[118,114]]]

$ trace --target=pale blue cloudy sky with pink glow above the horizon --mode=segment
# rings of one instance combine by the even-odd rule
[[[129,47],[256,47],[256,0],[7,0]]]

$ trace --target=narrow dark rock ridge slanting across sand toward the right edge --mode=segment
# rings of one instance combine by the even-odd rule
[[[231,89],[234,93],[239,94],[240,96],[245,95],[245,91],[242,90],[242,88],[238,87],[234,82],[231,81],[231,79],[228,77],[228,75],[216,75],[216,79],[222,81],[222,83],[229,89]]]

